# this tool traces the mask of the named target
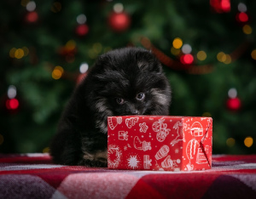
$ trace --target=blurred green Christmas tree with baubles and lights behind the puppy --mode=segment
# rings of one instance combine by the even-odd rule
[[[254,9],[236,0],[1,1],[0,152],[47,151],[88,65],[132,45],[163,63],[171,115],[213,118],[214,153],[255,153]]]

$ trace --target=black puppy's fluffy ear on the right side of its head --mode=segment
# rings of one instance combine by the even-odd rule
[[[137,65],[141,71],[162,72],[160,61],[149,51],[137,54]]]

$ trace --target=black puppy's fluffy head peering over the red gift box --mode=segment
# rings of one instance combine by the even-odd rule
[[[96,111],[104,116],[168,115],[171,89],[148,50],[120,48],[103,54],[90,76]]]

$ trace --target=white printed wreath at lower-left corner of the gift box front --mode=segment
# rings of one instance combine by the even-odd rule
[[[118,168],[122,151],[117,145],[108,145],[108,168]]]

